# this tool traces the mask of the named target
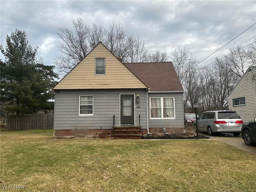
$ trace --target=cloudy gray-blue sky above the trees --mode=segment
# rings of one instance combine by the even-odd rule
[[[16,28],[25,30],[29,44],[39,46],[38,58],[53,65],[60,56],[56,45],[58,28],[71,27],[82,18],[108,28],[112,21],[122,24],[127,34],[142,36],[150,50],[167,52],[186,46],[198,61],[203,60],[246,30],[200,65],[228,53],[229,48],[246,46],[256,38],[256,1],[0,1],[0,43]],[[246,47],[247,48],[247,47]],[[1,59],[4,60],[1,54]]]

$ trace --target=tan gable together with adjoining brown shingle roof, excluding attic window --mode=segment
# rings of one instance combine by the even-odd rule
[[[95,58],[105,58],[106,75],[95,75]],[[99,42],[53,90],[150,88],[151,92],[183,92],[172,62],[122,63]]]

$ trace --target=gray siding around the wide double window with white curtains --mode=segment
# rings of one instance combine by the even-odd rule
[[[174,97],[175,119],[150,119],[149,98],[150,97]],[[148,94],[148,127],[149,128],[184,128],[183,93],[149,93]]]

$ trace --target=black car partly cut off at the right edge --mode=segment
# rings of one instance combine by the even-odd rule
[[[256,145],[256,119],[245,123],[242,126],[241,133],[246,145]]]

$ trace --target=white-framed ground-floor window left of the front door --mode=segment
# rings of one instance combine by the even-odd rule
[[[93,115],[93,96],[79,96],[79,115]]]

